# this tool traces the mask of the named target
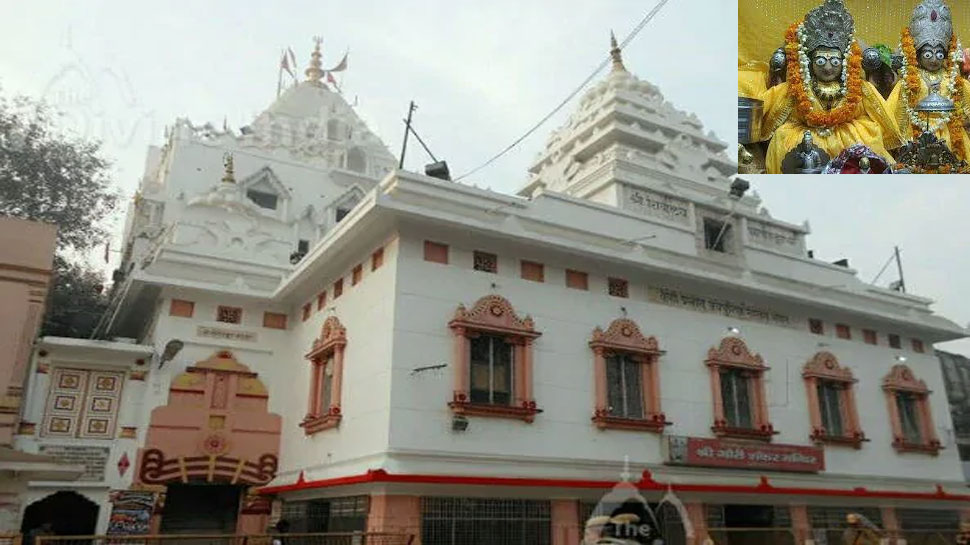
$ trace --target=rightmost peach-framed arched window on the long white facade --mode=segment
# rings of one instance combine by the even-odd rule
[[[933,427],[931,392],[926,383],[917,380],[909,367],[899,364],[882,379],[882,389],[893,428],[893,447],[899,452],[939,453],[943,445]]]

